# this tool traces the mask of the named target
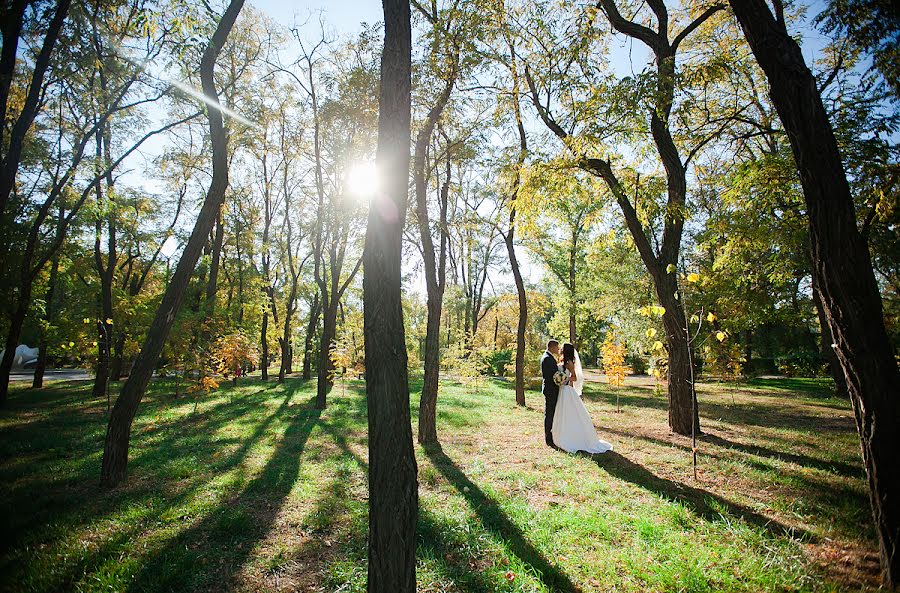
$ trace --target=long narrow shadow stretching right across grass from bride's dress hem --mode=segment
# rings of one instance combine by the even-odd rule
[[[720,521],[724,518],[723,513],[727,513],[732,517],[761,527],[774,536],[799,537],[807,542],[816,541],[816,536],[806,530],[783,525],[702,488],[661,478],[639,463],[635,463],[615,451],[593,455],[592,458],[601,469],[611,476],[631,482],[666,500],[683,504],[707,521]]]

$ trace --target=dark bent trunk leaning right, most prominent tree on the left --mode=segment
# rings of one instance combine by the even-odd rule
[[[203,94],[210,101],[207,108],[210,140],[212,142],[213,174],[206,199],[197,216],[194,229],[182,252],[175,273],[166,288],[162,302],[156,311],[153,324],[147,332],[144,345],[134,362],[131,374],[116,400],[106,429],[106,443],[103,450],[101,481],[106,486],[116,486],[125,479],[128,468],[128,442],[131,437],[131,423],[137,412],[141,398],[150,382],[153,369],[165,345],[175,315],[184,300],[185,289],[197,265],[203,244],[206,242],[216,215],[225,199],[228,189],[228,146],[222,125],[222,112],[216,107],[219,102],[216,92],[214,70],[216,58],[234,26],[234,21],[244,5],[244,0],[232,0],[225,10],[215,33],[200,61],[200,81]]]

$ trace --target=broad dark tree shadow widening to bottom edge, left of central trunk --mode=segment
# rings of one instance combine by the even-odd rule
[[[260,473],[199,523],[169,540],[144,564],[129,591],[228,590],[254,544],[272,526],[300,472],[300,458],[320,412],[312,400],[293,411]]]

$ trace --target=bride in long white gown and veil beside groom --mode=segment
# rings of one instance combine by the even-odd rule
[[[612,445],[597,438],[591,415],[581,401],[584,388],[584,372],[581,359],[572,344],[563,344],[563,363],[560,370],[565,380],[559,388],[556,412],[553,414],[553,441],[569,453],[587,451],[605,453]]]

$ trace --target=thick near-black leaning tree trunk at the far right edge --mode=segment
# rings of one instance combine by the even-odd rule
[[[800,174],[812,273],[847,382],[866,475],[885,588],[900,587],[900,371],[884,325],[869,250],[856,226],[837,141],[780,2],[731,0],[769,81]]]

